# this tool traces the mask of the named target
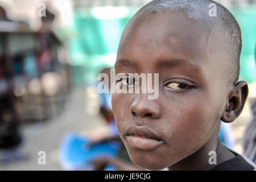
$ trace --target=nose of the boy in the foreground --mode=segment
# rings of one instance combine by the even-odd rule
[[[148,100],[147,94],[140,94],[140,97],[133,101],[130,112],[135,117],[160,118],[160,107],[157,100]]]

